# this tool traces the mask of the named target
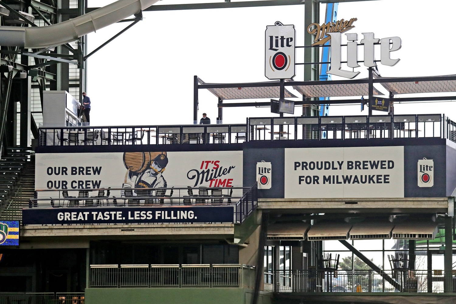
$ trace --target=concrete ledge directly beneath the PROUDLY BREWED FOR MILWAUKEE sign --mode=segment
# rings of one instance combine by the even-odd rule
[[[258,208],[262,210],[305,210],[337,212],[446,212],[446,197],[413,198],[321,198],[321,199],[258,199]]]

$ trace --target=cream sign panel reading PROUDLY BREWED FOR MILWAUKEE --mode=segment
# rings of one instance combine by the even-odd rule
[[[285,149],[285,198],[404,197],[404,147]]]

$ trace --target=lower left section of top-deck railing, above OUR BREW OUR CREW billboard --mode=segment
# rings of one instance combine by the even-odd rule
[[[39,145],[233,144],[246,140],[245,124],[166,126],[56,126],[39,128]]]

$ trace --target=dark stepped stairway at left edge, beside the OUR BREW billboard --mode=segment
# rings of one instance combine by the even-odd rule
[[[35,193],[35,157],[31,148],[6,148],[0,159],[0,218],[21,221]]]

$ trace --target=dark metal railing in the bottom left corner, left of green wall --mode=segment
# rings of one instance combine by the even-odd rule
[[[84,304],[84,293],[4,293],[0,292],[0,304]]]

